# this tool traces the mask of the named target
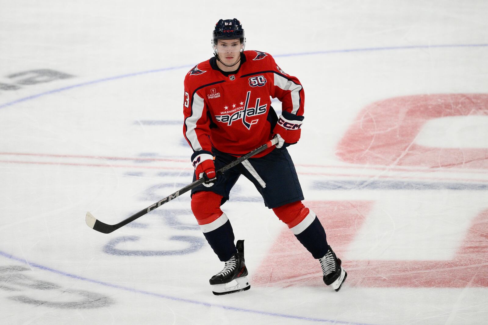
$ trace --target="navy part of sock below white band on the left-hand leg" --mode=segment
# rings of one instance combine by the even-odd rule
[[[237,253],[234,244],[234,230],[232,230],[229,220],[215,230],[204,232],[203,235],[222,262],[228,261],[232,255]]]

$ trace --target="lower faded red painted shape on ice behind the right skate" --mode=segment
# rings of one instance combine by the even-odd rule
[[[450,260],[350,260],[346,248],[371,214],[374,201],[311,201],[305,203],[326,227],[327,239],[348,276],[351,287],[488,287],[488,210],[472,219],[464,240]],[[285,249],[284,249],[285,248]],[[434,256],[435,258],[435,256]],[[324,287],[317,260],[285,229],[263,264],[254,272],[258,286]],[[299,265],[300,268],[290,268]],[[305,271],[304,271],[305,270]]]

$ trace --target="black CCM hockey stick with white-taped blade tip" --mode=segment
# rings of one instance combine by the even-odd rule
[[[266,142],[264,145],[262,145],[261,147],[254,149],[250,153],[247,153],[244,156],[237,158],[236,160],[234,160],[230,164],[222,167],[221,169],[219,169],[217,171],[217,173],[221,174],[221,173],[225,172],[226,170],[231,169],[232,167],[242,163],[244,160],[247,160],[248,158],[251,158],[252,156],[262,152],[263,150],[274,146],[277,143],[278,143],[278,138],[274,137],[271,140],[269,140],[268,142]],[[146,209],[143,209],[143,210],[137,212],[136,214],[131,215],[127,219],[125,219],[125,220],[123,220],[123,221],[121,221],[115,225],[108,225],[106,223],[103,223],[102,221],[97,220],[90,212],[86,212],[86,217],[85,217],[86,224],[88,225],[88,227],[95,229],[97,231],[100,231],[103,233],[111,233],[112,231],[117,230],[117,229],[121,228],[122,226],[127,225],[129,222],[132,222],[132,221],[136,220],[137,218],[142,217],[144,214],[149,213],[156,208],[159,208],[164,203],[168,203],[172,199],[180,196],[181,194],[183,194],[187,191],[190,191],[191,189],[194,189],[195,187],[199,186],[200,184],[202,184],[204,182],[205,182],[205,178],[203,178],[203,177],[200,179],[197,179],[193,183],[185,186],[183,189],[180,189],[180,190],[174,192],[173,194],[166,196],[162,200],[154,203],[153,205],[150,205]]]

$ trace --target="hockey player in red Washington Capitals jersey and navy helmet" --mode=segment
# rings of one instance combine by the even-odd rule
[[[216,295],[250,288],[244,263],[244,241],[234,233],[221,205],[240,175],[261,193],[264,204],[322,267],[326,285],[338,291],[347,273],[327,244],[325,230],[304,199],[286,147],[300,139],[305,95],[300,81],[287,75],[271,55],[244,51],[244,30],[237,19],[220,19],[212,38],[214,57],[193,67],[184,79],[183,134],[193,149],[193,180],[206,182],[192,190],[191,209],[203,235],[224,269],[210,279]],[[282,101],[278,117],[270,96]],[[216,170],[261,146],[271,147],[217,175]]]

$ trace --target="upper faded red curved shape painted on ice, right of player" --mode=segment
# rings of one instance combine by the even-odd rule
[[[488,169],[487,148],[436,148],[416,142],[428,121],[487,115],[488,94],[388,98],[360,112],[339,142],[336,155],[353,164]]]

